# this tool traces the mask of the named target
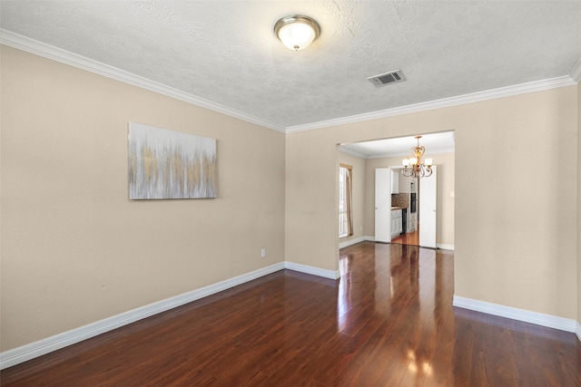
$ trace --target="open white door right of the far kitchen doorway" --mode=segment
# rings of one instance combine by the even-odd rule
[[[436,248],[437,170],[432,166],[428,178],[419,179],[419,246]]]

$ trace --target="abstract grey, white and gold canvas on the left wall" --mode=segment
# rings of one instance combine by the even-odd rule
[[[216,139],[130,122],[129,198],[216,198]]]

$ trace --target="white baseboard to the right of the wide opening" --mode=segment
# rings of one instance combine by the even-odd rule
[[[484,301],[459,297],[458,295],[454,295],[454,301],[452,305],[486,314],[494,314],[501,317],[507,317],[513,320],[523,321],[525,323],[547,326],[549,328],[554,328],[565,332],[575,333],[576,326],[577,331],[579,329],[578,328],[579,323],[577,323],[575,320],[571,320],[568,318],[557,317],[556,315],[551,314],[530,312],[524,309],[513,308],[505,305],[491,304]],[[577,333],[577,336],[578,335],[579,334]]]

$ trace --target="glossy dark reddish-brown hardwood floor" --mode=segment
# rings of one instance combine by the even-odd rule
[[[2,386],[581,386],[575,334],[454,308],[451,252],[363,242],[0,373]]]

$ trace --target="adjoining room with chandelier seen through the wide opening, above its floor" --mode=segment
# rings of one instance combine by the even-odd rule
[[[341,144],[350,185],[340,179],[340,247],[373,240],[454,250],[454,150],[454,131]],[[429,168],[405,167],[412,157],[428,160]],[[349,206],[341,201],[343,187],[350,188]],[[393,226],[391,218],[398,219]]]

